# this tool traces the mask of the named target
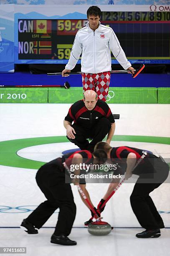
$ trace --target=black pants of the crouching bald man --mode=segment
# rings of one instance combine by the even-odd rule
[[[92,128],[84,128],[80,125],[73,124],[71,125],[76,134],[74,134],[75,139],[69,139],[72,143],[78,146],[81,150],[94,151],[94,146],[97,142],[102,141],[111,128],[109,119],[101,118],[96,125]],[[87,138],[92,138],[92,141],[89,143]]]

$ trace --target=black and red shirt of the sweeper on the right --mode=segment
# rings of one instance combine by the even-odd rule
[[[126,172],[127,168],[127,156],[129,153],[134,153],[137,157],[137,160],[140,159],[140,157],[143,155],[143,149],[140,148],[132,148],[128,146],[121,146],[121,147],[114,147],[112,148],[110,152],[110,158],[115,163],[117,162],[118,166],[120,168],[117,168],[116,173],[124,174]],[[154,172],[154,159],[157,158],[157,156],[148,153],[147,157],[145,159],[142,159],[138,166],[133,170],[133,174],[144,174],[144,173],[152,173]]]

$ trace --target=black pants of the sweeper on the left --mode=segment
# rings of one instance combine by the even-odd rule
[[[56,164],[45,164],[36,175],[36,181],[47,200],[41,203],[26,220],[41,228],[53,212],[60,208],[54,234],[69,236],[76,216],[76,205],[70,184],[65,184],[65,174]]]

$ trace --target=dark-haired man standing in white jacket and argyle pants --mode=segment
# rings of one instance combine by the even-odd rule
[[[127,60],[119,40],[112,28],[100,23],[101,10],[97,6],[91,6],[87,10],[88,23],[81,28],[74,39],[70,59],[62,72],[71,72],[81,56],[81,72],[83,90],[94,90],[100,100],[106,101],[110,84],[110,70],[112,69],[111,53],[129,73],[134,73]]]

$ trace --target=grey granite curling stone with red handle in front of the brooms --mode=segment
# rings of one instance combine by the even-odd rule
[[[88,232],[94,236],[106,236],[111,230],[111,225],[105,221],[94,221],[88,225]]]

